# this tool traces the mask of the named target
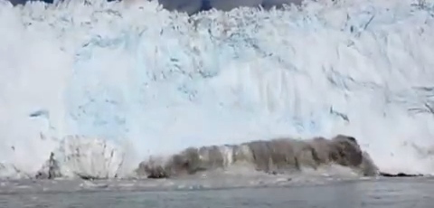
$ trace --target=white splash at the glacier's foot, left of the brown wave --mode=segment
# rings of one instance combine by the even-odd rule
[[[42,139],[47,139],[42,136]],[[55,139],[55,138],[53,138]],[[117,146],[106,139],[68,136],[57,140],[57,147],[48,152],[36,169],[4,163],[2,178],[115,178],[126,177],[129,160],[127,146]],[[32,156],[31,154],[29,154]],[[32,157],[24,158],[35,161]]]

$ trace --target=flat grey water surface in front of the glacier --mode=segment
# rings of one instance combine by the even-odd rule
[[[432,178],[382,178],[213,188],[174,181],[162,189],[152,180],[15,181],[2,183],[0,207],[430,208],[432,183]]]

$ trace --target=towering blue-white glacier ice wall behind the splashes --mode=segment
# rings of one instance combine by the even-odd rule
[[[137,165],[189,146],[347,134],[383,171],[434,174],[432,8],[188,17],[146,1],[2,1],[0,160],[35,173],[67,135],[128,141]]]

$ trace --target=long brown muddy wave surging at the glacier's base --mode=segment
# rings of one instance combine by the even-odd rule
[[[250,167],[250,171],[277,175],[334,164],[350,167],[356,175],[379,175],[378,168],[360,149],[357,140],[343,135],[331,140],[323,137],[311,140],[275,138],[241,145],[190,147],[165,160],[151,158],[144,161],[136,172],[147,178],[166,178],[242,165]]]

